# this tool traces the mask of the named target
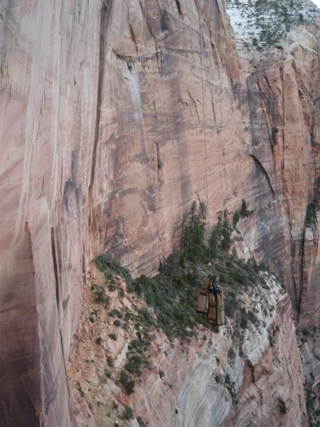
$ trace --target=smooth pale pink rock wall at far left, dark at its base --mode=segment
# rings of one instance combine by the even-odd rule
[[[91,256],[100,10],[0,6],[1,426],[73,425],[66,364]]]

